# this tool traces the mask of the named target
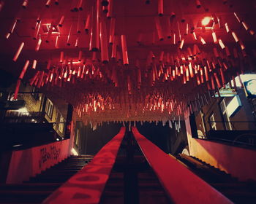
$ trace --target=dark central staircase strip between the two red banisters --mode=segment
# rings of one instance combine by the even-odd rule
[[[131,160],[118,154],[100,203],[171,203],[138,145],[133,144],[133,148],[136,149],[136,155]]]

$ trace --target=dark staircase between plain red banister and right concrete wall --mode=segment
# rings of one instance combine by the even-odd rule
[[[200,178],[203,178],[203,180],[234,203],[255,203],[255,181],[238,181],[238,178],[235,178],[229,173],[225,173],[225,171],[219,170],[196,157],[179,154],[177,159],[183,162],[184,165],[187,165],[187,168],[192,170],[197,176],[200,176]]]

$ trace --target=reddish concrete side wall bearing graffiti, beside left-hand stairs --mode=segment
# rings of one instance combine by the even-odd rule
[[[70,155],[69,139],[12,152],[7,184],[19,184]]]

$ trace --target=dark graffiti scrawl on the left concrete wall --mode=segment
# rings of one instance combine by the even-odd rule
[[[50,145],[40,149],[39,168],[48,160],[58,160],[61,148]]]

